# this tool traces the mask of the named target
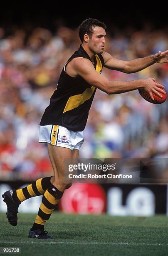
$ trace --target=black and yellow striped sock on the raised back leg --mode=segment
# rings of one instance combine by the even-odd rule
[[[51,185],[50,180],[51,177],[37,179],[35,182],[28,185],[27,187],[24,187],[22,189],[16,189],[12,195],[13,200],[20,204],[21,202],[27,200],[30,197],[44,195],[47,188]]]

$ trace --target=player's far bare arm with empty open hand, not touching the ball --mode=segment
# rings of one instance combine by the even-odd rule
[[[135,73],[146,67],[153,65],[154,63],[167,63],[168,62],[168,50],[158,51],[157,54],[150,55],[144,58],[134,59],[131,61],[123,61],[120,59],[115,59],[111,54],[103,52],[104,67],[108,69],[119,70],[124,73]]]

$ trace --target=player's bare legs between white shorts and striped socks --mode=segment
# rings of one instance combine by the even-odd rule
[[[64,189],[71,186],[70,182],[65,182],[67,166],[65,164],[66,161],[64,160],[66,159],[69,164],[75,164],[75,161],[78,159],[79,150],[53,146],[49,143],[47,143],[47,147],[49,159],[54,170],[54,176],[52,177],[51,182],[57,189],[63,192]]]

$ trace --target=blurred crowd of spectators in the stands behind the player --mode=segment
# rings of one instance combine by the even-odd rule
[[[107,28],[106,49],[131,60],[168,49],[168,28],[146,24]],[[64,63],[80,45],[78,29],[0,28],[0,179],[34,179],[52,173],[39,123]],[[110,80],[156,78],[168,93],[168,64],[124,74],[104,68]],[[96,91],[84,130],[81,158],[168,157],[168,101],[155,105],[138,90],[118,95]],[[43,174],[42,174],[43,172]],[[11,176],[12,173],[12,176]]]

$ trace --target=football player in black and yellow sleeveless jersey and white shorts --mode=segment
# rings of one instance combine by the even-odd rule
[[[24,200],[43,195],[42,202],[29,232],[30,238],[52,239],[44,231],[55,205],[64,190],[71,186],[66,182],[64,160],[72,163],[78,158],[79,149],[84,141],[83,130],[88,118],[96,88],[107,94],[124,93],[139,88],[148,92],[153,99],[154,92],[162,97],[163,85],[156,79],[138,79],[133,81],[109,81],[101,75],[103,67],[124,73],[138,72],[158,62],[168,62],[168,51],[145,58],[123,61],[115,59],[104,51],[106,25],[99,20],[89,18],[79,26],[82,41],[79,49],[65,63],[49,106],[40,122],[39,142],[47,143],[49,158],[54,176],[38,179],[23,189],[10,190],[2,197],[7,204],[7,218],[11,225],[17,225],[17,209]]]

